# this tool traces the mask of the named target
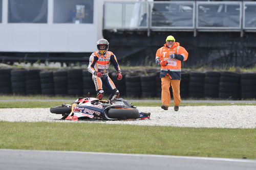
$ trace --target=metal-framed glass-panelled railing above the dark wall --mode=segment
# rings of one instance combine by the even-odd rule
[[[256,2],[105,2],[103,29],[256,32]]]

